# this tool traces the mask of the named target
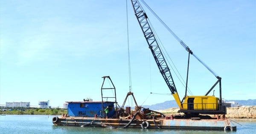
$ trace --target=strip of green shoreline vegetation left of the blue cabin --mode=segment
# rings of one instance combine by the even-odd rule
[[[67,109],[63,108],[26,108],[26,109],[6,109],[6,111],[0,111],[0,114],[38,114],[38,115],[62,115],[67,114]]]

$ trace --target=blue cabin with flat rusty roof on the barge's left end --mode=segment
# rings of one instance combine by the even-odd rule
[[[103,101],[103,110],[101,101],[79,101],[79,102],[66,102],[67,114],[69,116],[76,117],[106,117],[104,111],[108,107],[108,118],[113,117],[115,114],[114,103],[115,102],[105,102]],[[104,112],[104,114],[102,113]]]

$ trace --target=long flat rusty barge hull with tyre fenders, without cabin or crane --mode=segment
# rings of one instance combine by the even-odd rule
[[[54,125],[64,126],[95,126],[95,127],[107,127],[107,128],[161,128],[161,129],[196,129],[196,130],[224,130],[224,131],[236,131],[236,126],[228,119],[174,119],[172,117],[160,117],[153,119],[136,119],[139,112],[129,119],[129,117],[123,117],[123,119],[105,119],[98,117],[53,117],[52,123]]]

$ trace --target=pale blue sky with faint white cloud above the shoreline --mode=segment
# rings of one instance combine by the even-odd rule
[[[145,2],[222,78],[225,100],[256,99],[255,0]],[[188,52],[142,6],[154,34],[186,80]],[[189,62],[192,94],[188,95],[204,95],[217,79],[194,57]],[[119,105],[130,89],[138,105],[174,100],[172,95],[161,95],[171,92],[130,0],[127,10],[126,0],[0,0],[0,104],[38,105],[49,100],[49,105],[62,107],[66,101],[84,98],[101,101],[103,76],[111,77]],[[182,99],[185,88],[174,72],[172,76]],[[109,83],[106,80],[104,87],[112,87]],[[214,90],[219,97],[218,86]]]

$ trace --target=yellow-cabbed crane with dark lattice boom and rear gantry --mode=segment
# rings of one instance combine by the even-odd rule
[[[183,112],[186,115],[198,115],[198,114],[227,114],[226,106],[221,103],[221,77],[216,75],[206,64],[204,64],[198,57],[193,54],[193,52],[180,40],[177,35],[173,32],[172,34],[175,38],[180,42],[180,44],[189,52],[189,55],[192,54],[199,62],[201,62],[209,71],[211,71],[215,77],[218,79],[217,82],[209,89],[209,91],[203,96],[187,96],[185,92],[185,96],[182,101],[180,101],[179,94],[175,87],[175,83],[173,81],[173,77],[166,63],[165,57],[158,45],[156,37],[149,25],[148,16],[140,6],[138,0],[131,0],[135,16],[140,24],[140,28],[143,31],[144,37],[148,43],[148,47],[153,54],[154,60],[157,63],[157,67],[160,70],[160,73],[163,76],[168,88],[170,89],[172,96],[174,97],[177,105],[180,108],[180,112]],[[189,62],[188,62],[189,68]],[[188,78],[188,71],[187,71],[187,78]],[[187,82],[186,82],[187,83]],[[220,86],[220,98],[215,96],[207,96],[210,91],[219,83]],[[187,86],[186,86],[187,90]]]

